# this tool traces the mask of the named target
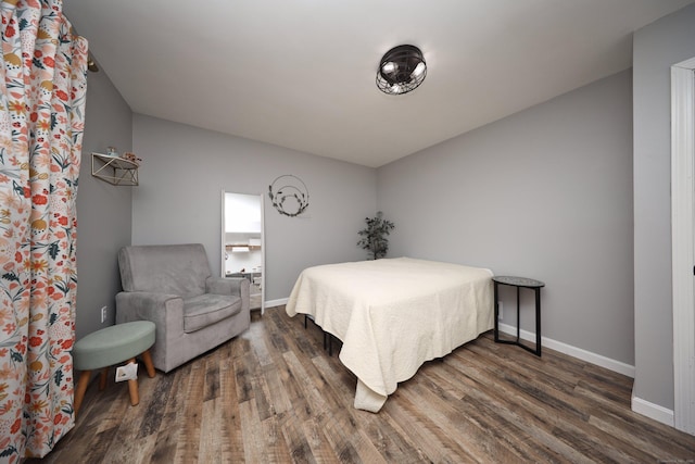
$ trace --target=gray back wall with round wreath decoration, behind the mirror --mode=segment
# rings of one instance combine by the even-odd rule
[[[266,300],[289,297],[306,266],[365,259],[357,230],[376,211],[376,170],[139,114],[132,139],[143,159],[132,196],[134,244],[201,242],[219,275],[225,189],[264,196]],[[283,174],[308,188],[302,216],[270,205],[268,186]]]

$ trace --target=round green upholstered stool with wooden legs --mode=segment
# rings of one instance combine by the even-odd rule
[[[101,371],[99,390],[106,386],[109,367],[115,364],[129,364],[135,358],[142,356],[144,367],[150,377],[154,377],[154,366],[150,356],[150,347],[154,344],[154,323],[137,321],[117,324],[97,330],[79,339],[73,348],[73,363],[77,371],[81,371],[75,392],[75,416],[85,398],[85,391],[91,378],[91,372]],[[130,404],[140,402],[138,396],[138,380],[128,380]]]

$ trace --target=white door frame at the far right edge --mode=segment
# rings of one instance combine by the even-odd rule
[[[671,66],[673,418],[695,435],[695,58]]]

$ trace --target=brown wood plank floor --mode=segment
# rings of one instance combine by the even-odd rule
[[[34,462],[695,462],[695,437],[630,411],[630,378],[491,334],[426,363],[378,414],[353,409],[355,385],[317,327],[271,308],[217,350],[141,375],[138,406],[125,383],[92,384],[75,428]]]

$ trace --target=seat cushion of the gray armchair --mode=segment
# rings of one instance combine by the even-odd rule
[[[241,298],[204,293],[184,299],[184,331],[200,330],[241,311]]]

